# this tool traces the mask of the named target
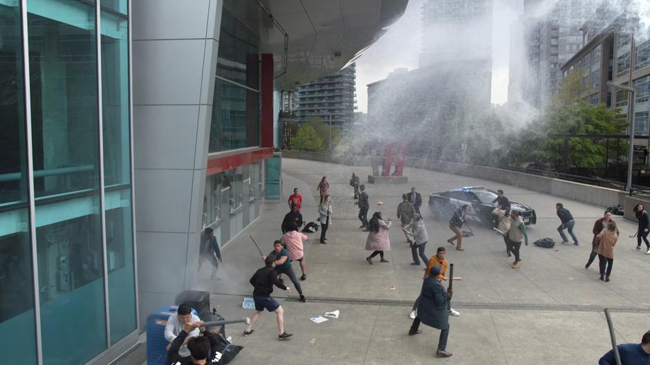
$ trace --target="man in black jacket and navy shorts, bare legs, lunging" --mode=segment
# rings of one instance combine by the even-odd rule
[[[277,286],[282,290],[289,292],[289,288],[284,286],[277,279],[277,272],[275,271],[275,254],[270,254],[264,259],[265,266],[253,274],[250,278],[250,285],[254,287],[253,290],[253,300],[255,301],[255,314],[250,319],[250,324],[244,330],[243,335],[248,336],[253,333],[253,325],[255,321],[259,318],[259,315],[263,310],[268,310],[269,312],[275,312],[277,315],[277,328],[278,328],[278,337],[277,339],[288,339],[293,336],[291,333],[286,333],[284,331],[284,309],[280,306],[280,303],[275,301],[271,297],[273,292],[273,286]]]

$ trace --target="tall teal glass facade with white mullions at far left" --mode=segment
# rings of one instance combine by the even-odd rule
[[[84,364],[136,330],[128,8],[0,0],[8,363]]]

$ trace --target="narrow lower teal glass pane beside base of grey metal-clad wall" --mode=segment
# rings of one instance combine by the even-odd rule
[[[136,330],[131,189],[107,191],[106,266],[109,272],[111,344]]]

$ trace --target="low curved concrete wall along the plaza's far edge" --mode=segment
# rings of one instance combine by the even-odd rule
[[[370,156],[341,156],[329,155],[328,153],[305,152],[305,151],[282,151],[282,156],[286,158],[300,158],[302,160],[315,160],[321,162],[331,162],[340,165],[351,166],[369,166]],[[613,205],[624,205],[625,217],[635,220],[628,216],[633,203],[642,200],[636,197],[626,196],[625,191],[609,189],[606,187],[597,187],[557,178],[546,178],[523,172],[498,169],[496,167],[485,167],[477,165],[468,165],[458,162],[427,160],[425,158],[407,158],[408,167],[416,167],[431,171],[440,171],[447,174],[470,176],[472,178],[482,178],[504,184],[523,187],[540,193],[550,194],[559,198],[578,200],[584,203],[598,205],[600,207],[611,207]],[[650,207],[650,201],[646,200]],[[628,205],[631,207],[628,208]]]

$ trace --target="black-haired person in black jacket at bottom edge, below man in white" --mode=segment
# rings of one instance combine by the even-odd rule
[[[187,349],[189,356],[180,357],[178,349],[183,345],[187,338],[187,334],[192,332],[195,328],[201,328],[203,336],[192,337],[187,341]],[[216,333],[212,333],[203,327],[202,321],[187,322],[183,330],[180,331],[178,337],[171,342],[169,352],[167,353],[166,365],[205,365],[205,364],[219,364],[221,353],[216,349],[219,346],[221,338]],[[221,340],[223,341],[223,340]]]

